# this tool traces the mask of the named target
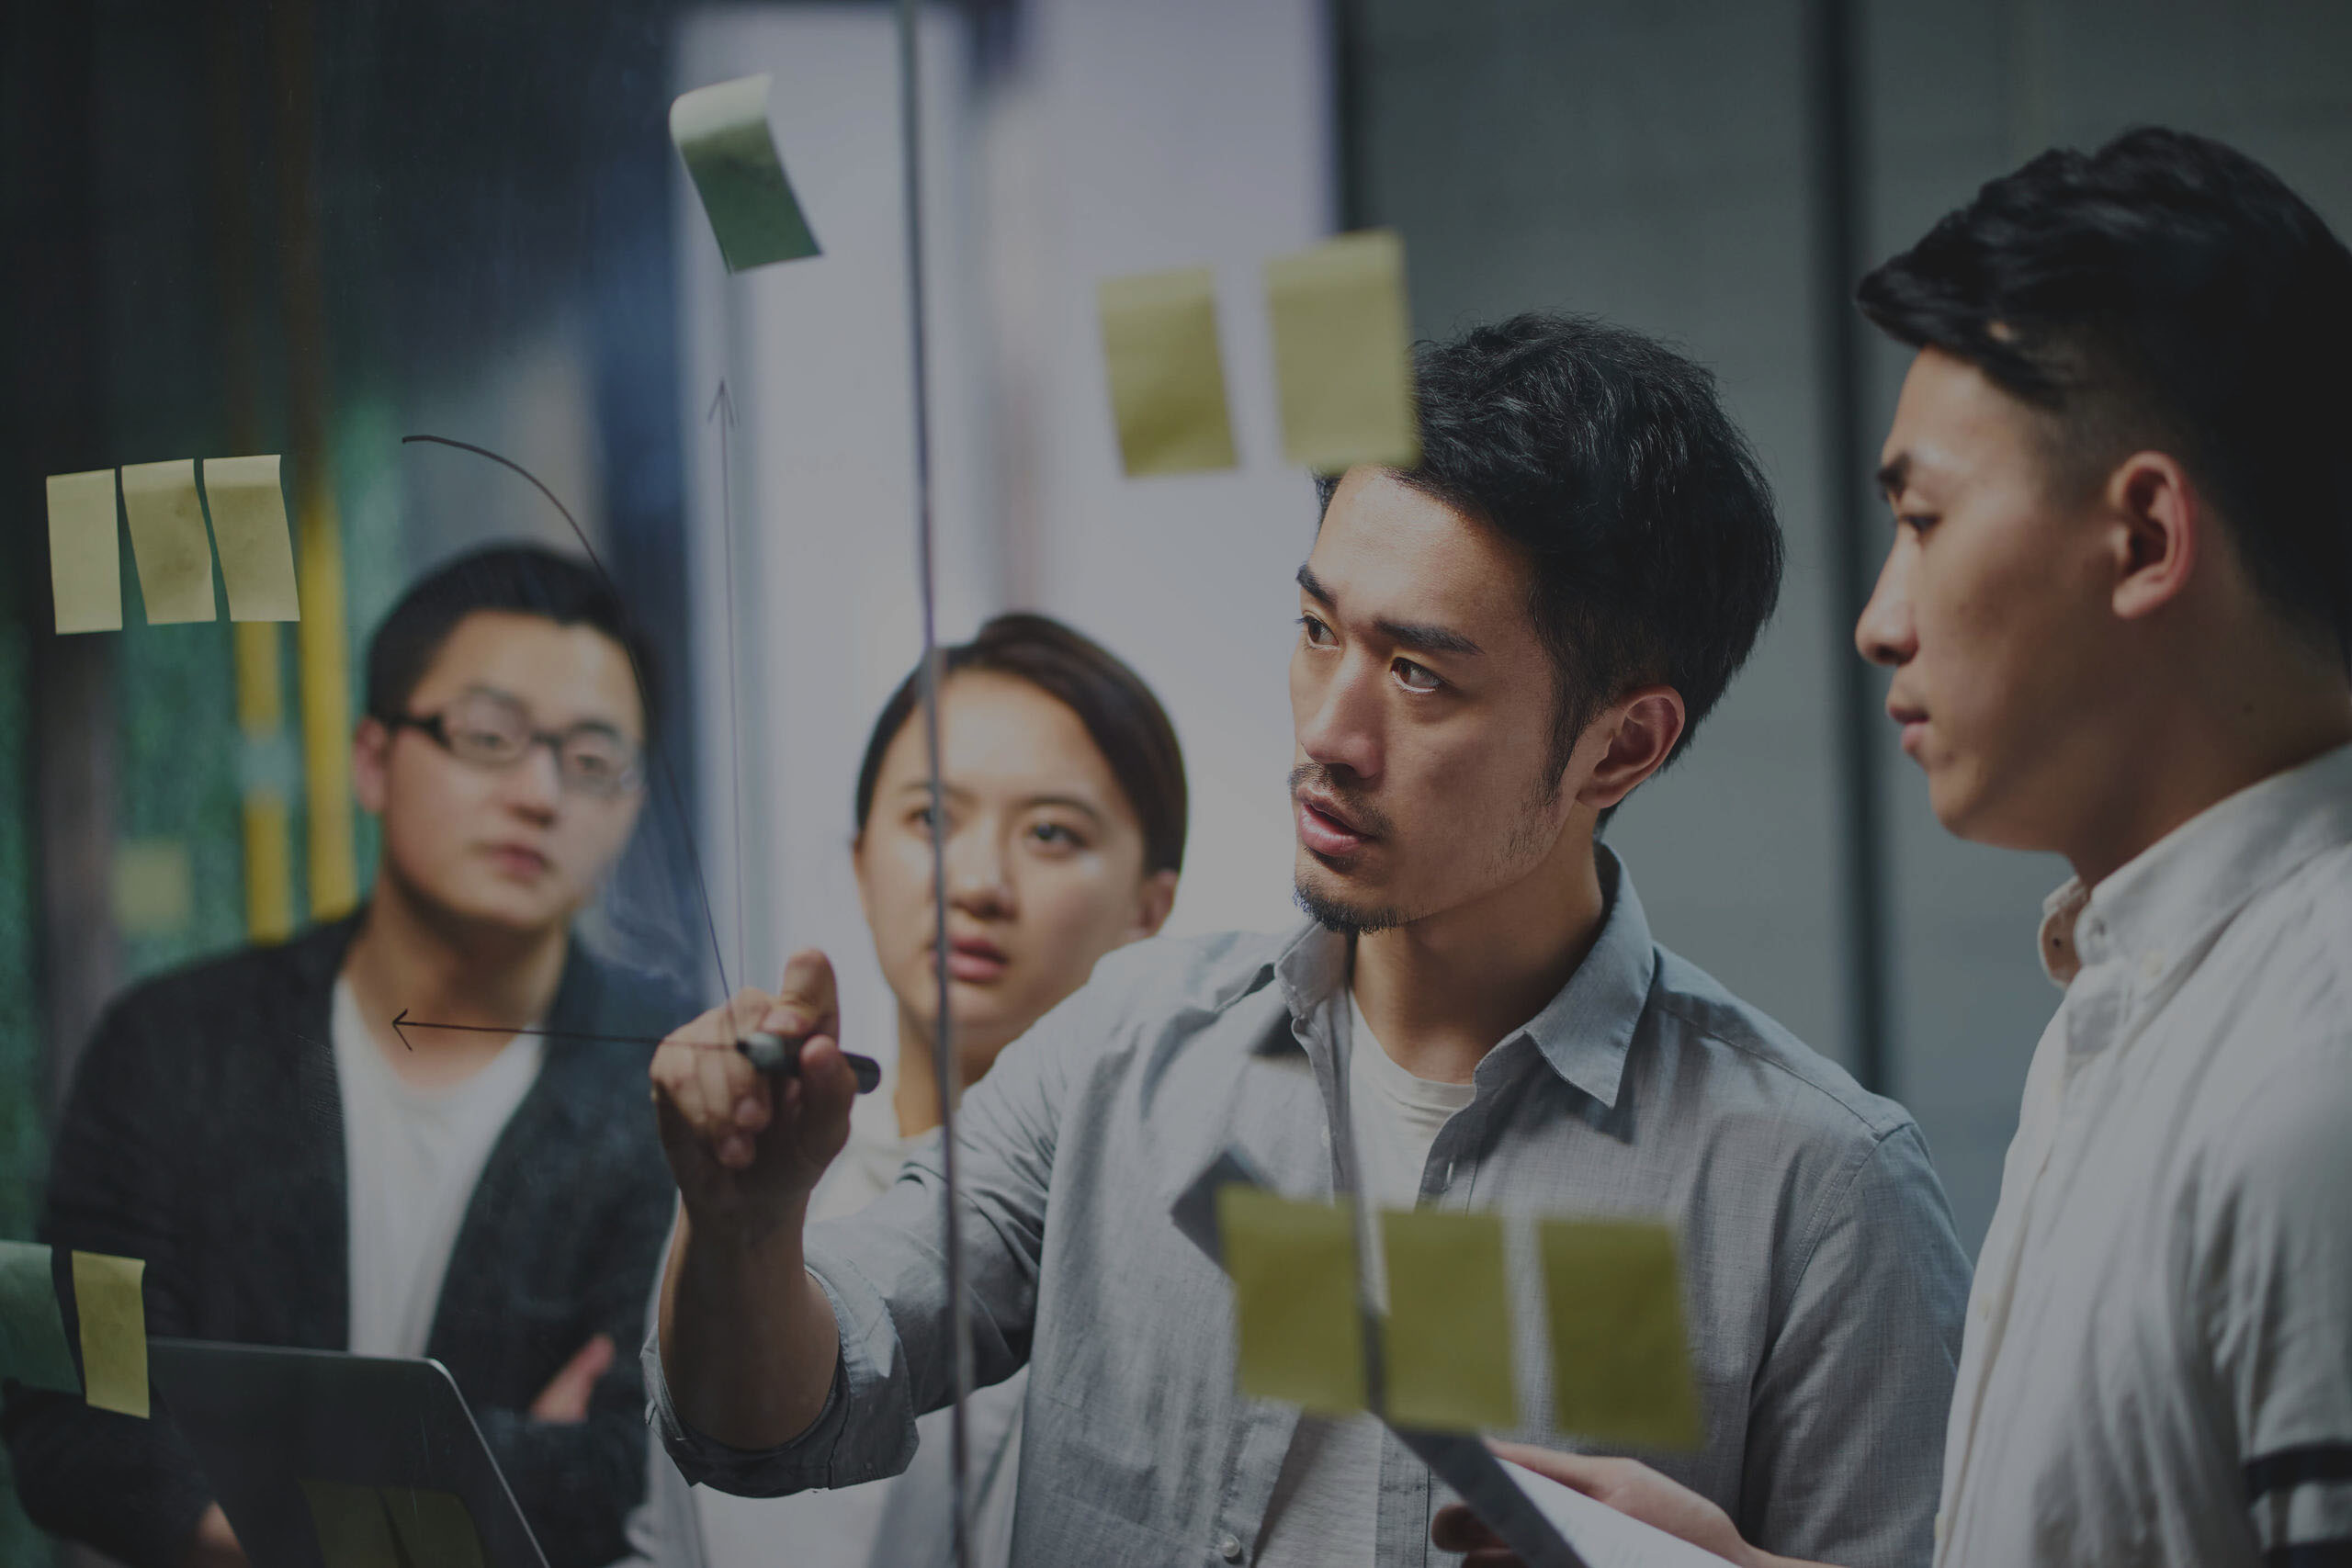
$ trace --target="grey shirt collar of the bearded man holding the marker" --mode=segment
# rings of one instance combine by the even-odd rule
[[[1486,1060],[1496,1060],[1501,1046],[1524,1034],[1555,1074],[1613,1107],[1625,1079],[1625,1053],[1649,1006],[1658,950],[1625,865],[1606,844],[1595,844],[1592,853],[1606,910],[1592,950],[1543,1011],[1503,1037]],[[1348,978],[1348,938],[1305,922],[1275,959],[1275,978],[1291,1018],[1308,1020]],[[1486,1072],[1486,1063],[1479,1063],[1479,1072]]]

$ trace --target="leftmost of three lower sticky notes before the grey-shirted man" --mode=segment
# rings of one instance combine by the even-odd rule
[[[1235,1182],[1216,1194],[1216,1232],[1232,1274],[1242,1392],[1317,1415],[1362,1410],[1355,1208]]]

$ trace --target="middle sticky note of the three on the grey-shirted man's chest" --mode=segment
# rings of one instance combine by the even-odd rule
[[[1503,1218],[1494,1213],[1385,1211],[1388,1420],[1428,1432],[1519,1425],[1510,1380],[1510,1288]]]

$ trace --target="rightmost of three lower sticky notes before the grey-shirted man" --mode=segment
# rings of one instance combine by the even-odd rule
[[[1628,1448],[1698,1448],[1698,1385],[1682,1324],[1675,1232],[1644,1220],[1545,1220],[1552,1420]]]

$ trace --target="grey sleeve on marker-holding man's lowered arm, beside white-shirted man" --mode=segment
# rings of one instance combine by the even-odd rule
[[[1844,1568],[1926,1563],[1969,1258],[1919,1128],[1860,1150],[1818,1213],[1750,1396],[1740,1535]]]

